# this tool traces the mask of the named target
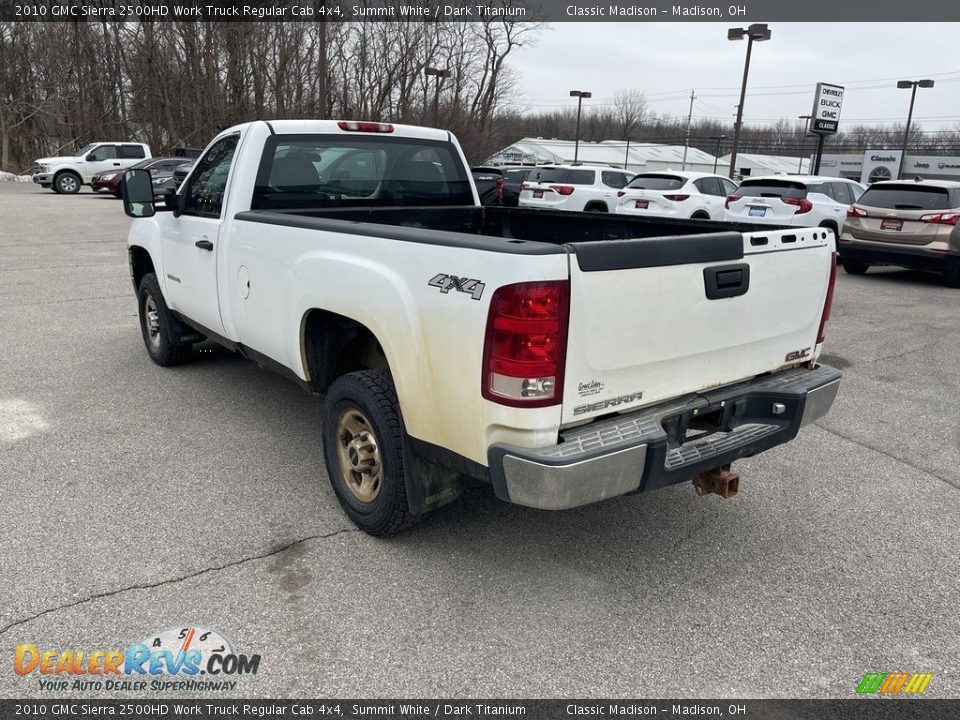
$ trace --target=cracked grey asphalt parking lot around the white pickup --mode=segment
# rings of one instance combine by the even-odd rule
[[[837,403],[732,500],[480,488],[378,540],[336,502],[315,398],[212,345],[150,362],[127,225],[0,185],[0,696],[40,694],[20,643],[186,624],[261,655],[237,697],[850,697],[867,671],[960,696],[960,291],[840,273]]]

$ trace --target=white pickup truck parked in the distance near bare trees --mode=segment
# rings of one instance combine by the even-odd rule
[[[54,192],[72,195],[89,185],[93,176],[110,170],[123,172],[141,160],[153,157],[150,147],[133,142],[90,143],[73,155],[38,158],[33,161],[33,181]]]

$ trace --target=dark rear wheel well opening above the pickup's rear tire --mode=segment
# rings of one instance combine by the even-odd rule
[[[389,370],[383,346],[365,325],[326,310],[310,310],[300,323],[300,353],[314,392],[341,375]]]

